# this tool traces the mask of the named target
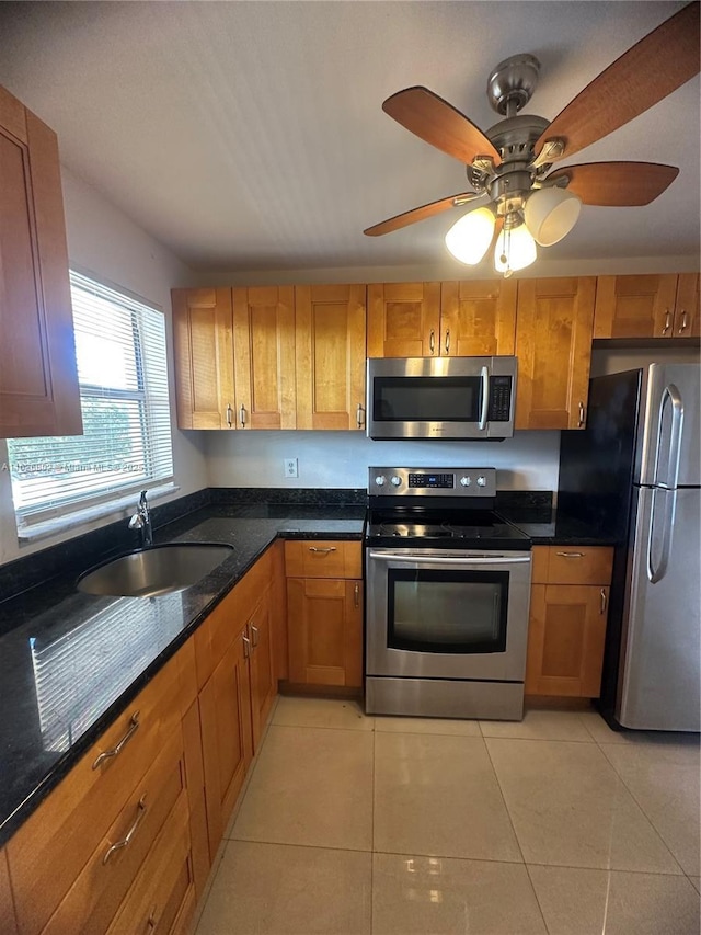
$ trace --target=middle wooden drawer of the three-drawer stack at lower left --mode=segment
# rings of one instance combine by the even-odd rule
[[[183,741],[177,730],[129,796],[43,935],[107,928],[184,789]],[[119,846],[127,837],[128,844]]]

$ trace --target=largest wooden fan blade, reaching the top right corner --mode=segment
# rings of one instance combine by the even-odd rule
[[[701,67],[699,3],[689,3],[595,78],[538,139],[538,156],[551,139],[564,151],[554,162],[601,139],[685,84]]]

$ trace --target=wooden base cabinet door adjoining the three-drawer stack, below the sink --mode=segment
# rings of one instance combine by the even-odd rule
[[[199,694],[209,855],[214,859],[253,756],[245,628]]]

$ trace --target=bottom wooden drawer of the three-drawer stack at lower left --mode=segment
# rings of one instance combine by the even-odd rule
[[[108,935],[152,935],[183,928],[195,904],[187,799],[181,794],[153,842]]]

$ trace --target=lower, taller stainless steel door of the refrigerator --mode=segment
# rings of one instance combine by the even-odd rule
[[[635,506],[616,719],[698,731],[701,490],[640,488]]]

